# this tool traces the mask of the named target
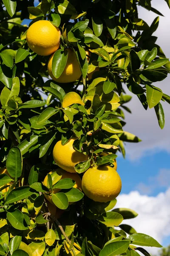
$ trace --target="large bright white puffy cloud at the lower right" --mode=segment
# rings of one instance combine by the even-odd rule
[[[138,233],[152,236],[160,244],[170,236],[170,188],[156,197],[140,195],[132,191],[128,195],[118,197],[116,208],[130,208],[139,215],[136,218],[123,221],[136,229]],[[149,253],[158,255],[159,248],[145,247]]]

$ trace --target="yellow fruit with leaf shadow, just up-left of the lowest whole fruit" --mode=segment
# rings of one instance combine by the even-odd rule
[[[73,143],[76,138],[72,138],[65,145],[59,140],[53,149],[53,157],[55,163],[67,172],[76,172],[74,166],[88,160],[88,156],[74,150]]]

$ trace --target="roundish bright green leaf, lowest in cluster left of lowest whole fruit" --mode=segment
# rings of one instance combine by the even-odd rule
[[[51,198],[52,198],[53,203],[59,209],[67,209],[67,207],[68,207],[68,198],[64,193],[59,192],[59,193],[53,194]]]

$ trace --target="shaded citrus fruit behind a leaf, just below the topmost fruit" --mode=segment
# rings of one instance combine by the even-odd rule
[[[51,55],[49,61],[48,61],[48,74],[51,76],[51,78],[54,81],[57,81],[59,83],[70,83],[74,82],[75,80],[79,79],[79,77],[82,75],[82,71],[79,66],[79,62],[76,58],[76,53],[71,49],[67,48],[66,51],[68,51],[68,59],[65,66],[65,69],[63,70],[61,76],[59,78],[55,78],[52,73],[52,61],[53,61],[53,55]]]

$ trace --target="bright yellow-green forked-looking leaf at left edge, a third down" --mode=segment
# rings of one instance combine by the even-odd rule
[[[14,95],[19,95],[20,93],[20,80],[18,77],[15,77],[12,81],[12,87],[11,89],[8,89],[7,87],[4,87],[1,95],[0,95],[0,102],[3,106],[8,105],[9,99]]]

